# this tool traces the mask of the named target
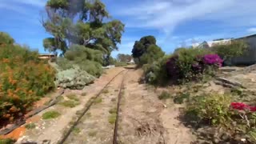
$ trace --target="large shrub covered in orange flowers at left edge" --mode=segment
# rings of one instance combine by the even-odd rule
[[[26,47],[0,46],[0,120],[13,121],[54,88],[54,69]]]

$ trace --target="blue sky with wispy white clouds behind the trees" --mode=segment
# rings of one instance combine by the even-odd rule
[[[126,24],[119,51],[130,54],[134,41],[154,35],[158,46],[171,53],[214,38],[256,34],[255,0],[102,0],[113,18]],[[0,31],[16,42],[45,53],[42,39],[49,34],[40,24],[46,0],[0,0]]]

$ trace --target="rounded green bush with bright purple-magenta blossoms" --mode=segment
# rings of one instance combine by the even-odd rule
[[[203,74],[212,74],[222,66],[222,59],[208,50],[182,49],[166,62],[170,78],[178,82],[188,82],[202,78]]]

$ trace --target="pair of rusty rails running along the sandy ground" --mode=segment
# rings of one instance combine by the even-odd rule
[[[114,122],[114,134],[113,134],[113,144],[117,144],[118,143],[118,120],[119,120],[119,109],[120,109],[120,103],[121,103],[121,98],[122,98],[122,90],[124,88],[124,80],[125,80],[125,75],[128,73],[129,70],[122,70],[121,72],[119,72],[117,75],[114,76],[114,78],[110,79],[110,82],[108,82],[103,88],[102,90],[100,90],[98,92],[98,94],[96,94],[93,98],[92,101],[90,101],[90,103],[87,103],[85,108],[82,110],[82,113],[78,116],[77,120],[74,122],[74,124],[72,126],[70,126],[69,130],[67,130],[67,132],[65,134],[63,134],[63,137],[61,138],[61,140],[58,141],[58,144],[63,144],[66,142],[66,140],[70,137],[70,134],[72,134],[74,128],[76,126],[78,126],[79,122],[81,122],[81,119],[85,116],[85,114],[90,110],[91,106],[94,105],[95,100],[97,98],[100,98],[101,95],[104,93],[104,90],[106,90],[106,88],[108,86],[110,86],[111,82],[114,82],[114,80],[120,76],[122,74],[122,81],[119,84],[119,88],[118,88],[118,102],[117,102],[117,108],[116,108],[116,118],[115,118],[115,122]]]

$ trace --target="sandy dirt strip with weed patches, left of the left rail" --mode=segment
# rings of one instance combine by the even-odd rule
[[[90,98],[94,97],[95,94],[98,94],[100,90],[110,81],[111,78],[114,78],[116,74],[124,70],[123,68],[114,68],[106,71],[106,74],[103,74],[101,78],[98,78],[94,84],[86,86],[84,90],[66,90],[65,95],[76,94],[78,96],[79,105],[74,106],[73,108],[65,107],[62,105],[52,106],[50,109],[42,111],[40,114],[35,115],[34,117],[38,118],[37,122],[34,122],[35,128],[32,130],[26,130],[25,134],[18,139],[16,143],[22,142],[38,142],[42,143],[45,140],[50,141],[51,144],[57,143],[69,123],[72,121],[72,118],[79,110],[86,105],[86,102]],[[82,96],[82,93],[86,92],[86,96]],[[66,97],[64,97],[65,99]],[[58,111],[61,115],[58,118],[43,120],[42,114],[47,111],[54,110]]]

